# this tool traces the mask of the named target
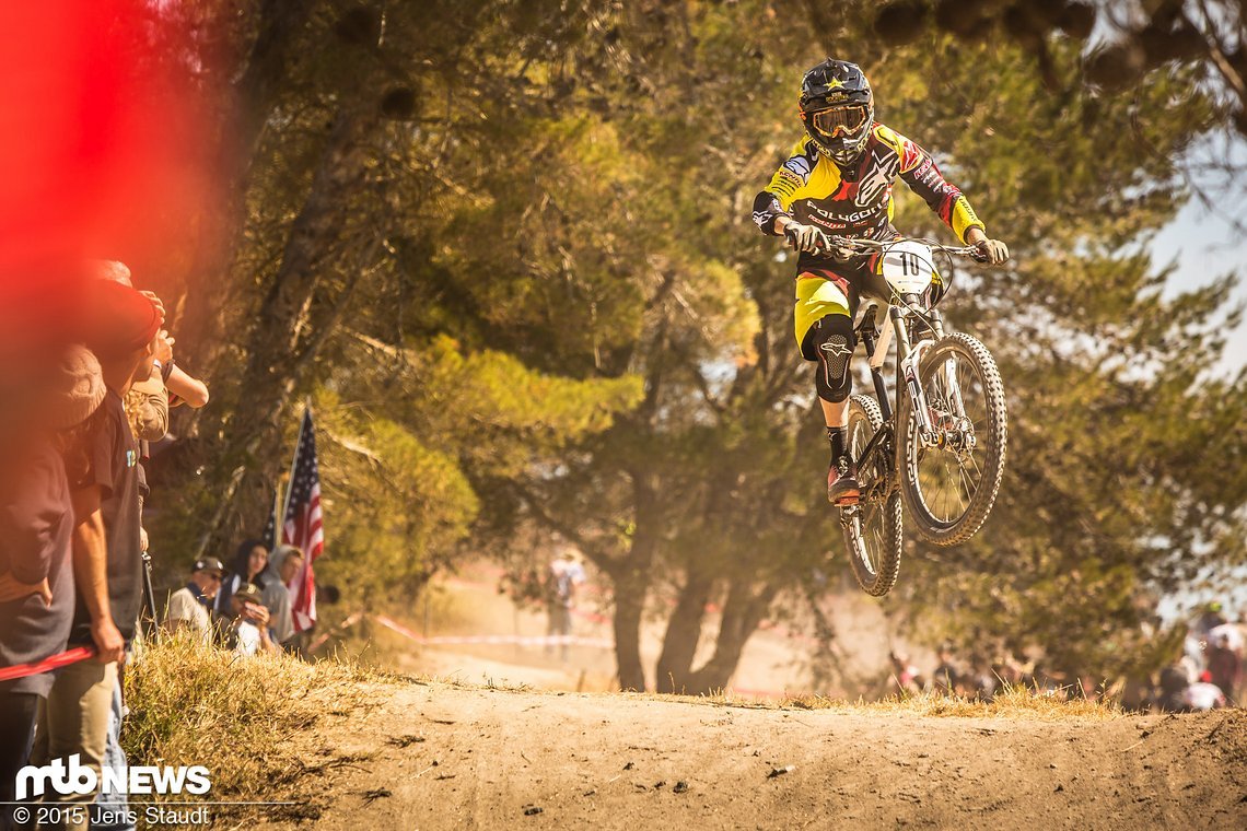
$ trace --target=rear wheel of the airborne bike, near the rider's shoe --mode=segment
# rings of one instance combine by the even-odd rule
[[[840,526],[849,552],[849,566],[858,586],[867,594],[883,597],[897,583],[900,572],[902,518],[900,495],[892,487],[889,452],[878,449],[869,460],[862,451],[883,426],[883,415],[873,399],[849,399],[849,422],[844,449],[858,462],[858,503],[840,507]]]

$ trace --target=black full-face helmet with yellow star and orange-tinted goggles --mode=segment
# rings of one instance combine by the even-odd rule
[[[801,80],[801,121],[818,152],[839,166],[862,154],[874,123],[874,93],[857,64],[827,59]]]

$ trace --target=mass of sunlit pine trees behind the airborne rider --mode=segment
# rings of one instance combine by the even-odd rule
[[[865,2],[269,5],[218,67],[262,128],[228,279],[192,295],[216,414],[170,526],[222,498],[208,531],[256,523],[311,394],[323,568],[352,599],[557,533],[615,583],[621,683],[645,683],[627,653],[662,596],[657,675],[723,686],[840,547],[791,263],[749,221],[801,135],[801,72],[834,50],[1016,254],[949,300],[1001,364],[1001,500],[970,544],[917,547],[888,607],[932,640],[1109,672],[1160,660],[1140,658],[1157,593],[1242,561],[1247,381],[1203,374],[1232,280],[1167,295],[1139,250],[1223,118],[1198,66],[1111,96],[1082,85],[1080,41],[1046,36],[1042,61],[929,27],[885,47]],[[949,238],[897,197],[898,228]]]

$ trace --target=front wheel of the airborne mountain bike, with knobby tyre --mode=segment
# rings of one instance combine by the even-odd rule
[[[923,441],[913,397],[903,395],[900,490],[919,536],[955,546],[979,532],[1000,490],[1009,432],[1004,384],[986,346],[960,331],[923,355],[918,382],[935,444]]]

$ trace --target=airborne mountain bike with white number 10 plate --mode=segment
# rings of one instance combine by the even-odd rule
[[[935,308],[950,288],[935,268],[936,252],[949,257],[951,274],[951,258],[978,260],[976,248],[917,238],[833,244],[840,259],[877,258],[890,292],[882,305],[863,299],[854,326],[874,397],[849,397],[844,445],[857,461],[859,496],[839,506],[853,576],[868,594],[882,597],[900,569],[902,501],[919,536],[936,546],[963,543],[983,527],[1004,475],[1005,394],[986,346],[946,333]],[[884,319],[890,325],[880,330]],[[892,340],[895,400],[883,378]]]

